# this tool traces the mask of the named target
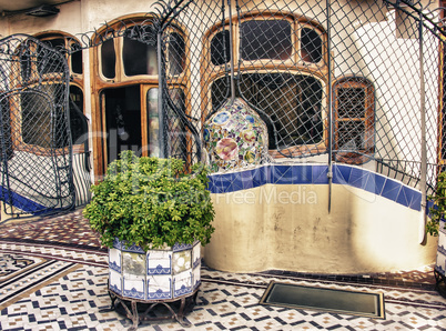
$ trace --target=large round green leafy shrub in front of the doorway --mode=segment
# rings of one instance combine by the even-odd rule
[[[103,245],[114,238],[144,249],[174,243],[209,243],[214,209],[202,163],[184,173],[179,159],[138,158],[124,151],[103,181],[92,187],[93,198],[83,214]]]

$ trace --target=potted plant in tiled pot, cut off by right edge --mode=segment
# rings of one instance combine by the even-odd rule
[[[435,263],[435,278],[437,289],[446,298],[446,172],[438,175],[437,188],[433,195],[428,197],[434,205],[429,209],[430,219],[426,224],[426,230],[432,235],[438,235],[437,259]]]

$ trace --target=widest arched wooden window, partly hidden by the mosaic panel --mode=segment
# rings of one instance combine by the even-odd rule
[[[249,101],[268,128],[270,154],[326,151],[326,33],[292,13],[244,13],[205,34],[203,120],[230,98],[233,44],[236,97]],[[274,128],[275,133],[274,134]]]

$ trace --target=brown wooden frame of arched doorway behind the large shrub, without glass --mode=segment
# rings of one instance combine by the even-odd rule
[[[135,24],[152,24],[153,18],[148,16],[146,13],[135,13],[129,14],[124,17],[116,18],[108,22],[104,27],[99,29],[95,34],[92,37],[93,44],[98,44],[90,50],[92,63],[91,63],[91,72],[92,76],[92,130],[93,132],[102,132],[101,134],[95,134],[93,137],[93,154],[97,156],[94,158],[94,172],[98,175],[104,173],[104,169],[108,164],[107,160],[107,140],[105,140],[105,126],[104,126],[104,117],[102,113],[102,104],[104,102],[102,92],[107,89],[111,88],[124,88],[130,87],[132,84],[141,86],[141,102],[146,99],[146,93],[149,90],[159,88],[159,76],[156,74],[135,74],[135,76],[126,76],[123,67],[123,33],[125,29],[132,28]],[[179,33],[184,41],[184,66],[183,70],[179,74],[169,74],[171,72],[170,61],[166,62],[166,71],[168,71],[168,86],[175,89],[183,90],[185,96],[189,96],[187,90],[191,88],[191,82],[187,79],[190,77],[190,66],[187,61],[190,59],[190,44],[189,44],[189,36],[187,30],[181,23],[173,21],[170,27],[164,31],[164,36],[170,38],[171,33]],[[156,38],[156,36],[154,36]],[[110,42],[114,46],[115,52],[115,63],[114,63],[114,78],[107,78],[102,72],[102,58],[101,58],[101,47],[104,40],[110,40]],[[170,44],[170,43],[169,43]],[[165,50],[165,56],[169,59],[171,54],[171,50]],[[158,71],[158,68],[156,68]],[[149,147],[144,143],[149,143],[150,140],[150,128],[148,127],[148,104],[141,106],[142,116],[141,116],[141,132],[142,132],[142,156],[149,156]],[[185,113],[190,114],[191,112],[191,100],[186,98],[185,100]]]

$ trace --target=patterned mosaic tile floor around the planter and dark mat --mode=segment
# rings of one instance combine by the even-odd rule
[[[384,293],[386,319],[260,305],[272,280]],[[0,330],[126,330],[131,321],[110,311],[107,282],[107,251],[79,210],[0,228]],[[203,267],[186,320],[189,330],[446,330],[446,299],[434,282],[432,267],[365,275],[235,274]],[[166,321],[139,330],[186,329]]]

